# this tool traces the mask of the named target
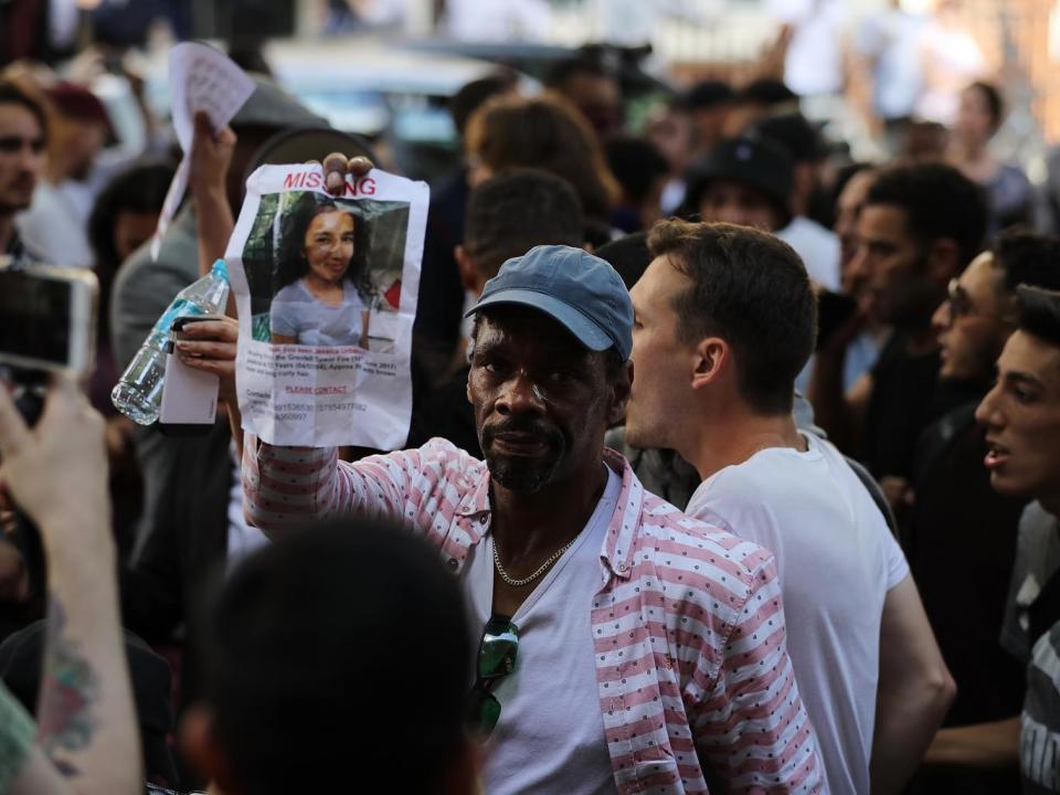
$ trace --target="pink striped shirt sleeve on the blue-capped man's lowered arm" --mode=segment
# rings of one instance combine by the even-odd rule
[[[772,556],[753,570],[735,615],[693,718],[700,755],[727,792],[822,792],[824,767],[787,656]],[[713,647],[704,649],[703,659],[711,654]]]

